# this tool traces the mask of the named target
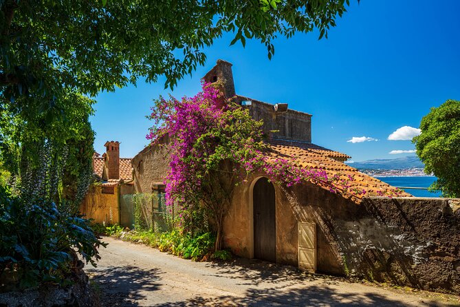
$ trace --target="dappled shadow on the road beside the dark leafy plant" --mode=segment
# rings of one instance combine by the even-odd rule
[[[138,266],[108,266],[86,270],[100,292],[102,306],[138,306],[146,299],[144,291],[155,291],[160,286],[160,269],[145,270]]]

